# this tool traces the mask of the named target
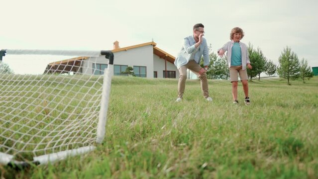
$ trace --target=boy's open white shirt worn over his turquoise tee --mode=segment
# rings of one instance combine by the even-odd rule
[[[242,52],[242,70],[246,70],[246,65],[249,63],[251,63],[249,61],[249,58],[248,58],[248,52],[247,52],[247,46],[239,41],[239,46],[241,47],[241,52]],[[220,51],[221,49],[224,51],[224,53],[227,51],[226,53],[226,58],[227,58],[227,65],[228,67],[231,66],[231,56],[232,56],[232,47],[233,47],[233,44],[234,44],[234,41],[231,40],[231,41],[228,41],[226,42],[222,48],[218,49],[218,51]]]

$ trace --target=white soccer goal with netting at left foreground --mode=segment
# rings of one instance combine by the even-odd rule
[[[47,164],[102,143],[111,51],[0,51],[0,164]]]

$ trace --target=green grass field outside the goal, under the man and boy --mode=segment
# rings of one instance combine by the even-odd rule
[[[113,77],[106,138],[97,150],[1,178],[318,179],[318,77],[306,84],[249,82],[251,105],[232,104],[231,84],[211,80],[213,102],[188,80]]]

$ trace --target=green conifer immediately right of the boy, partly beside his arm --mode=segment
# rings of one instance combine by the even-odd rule
[[[252,78],[258,75],[258,80],[260,80],[260,75],[265,71],[265,63],[266,57],[264,56],[262,50],[257,48],[257,50],[253,49],[253,45],[248,44],[248,57],[252,65],[252,69],[247,69],[247,75],[252,81]]]

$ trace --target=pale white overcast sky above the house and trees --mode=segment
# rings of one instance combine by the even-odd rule
[[[193,25],[203,23],[213,51],[238,26],[241,41],[276,64],[288,45],[318,66],[318,0],[1,0],[0,6],[0,49],[111,50],[115,40],[125,47],[153,39],[176,56]]]

